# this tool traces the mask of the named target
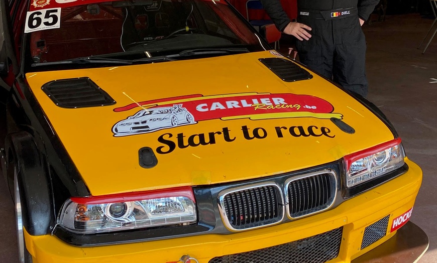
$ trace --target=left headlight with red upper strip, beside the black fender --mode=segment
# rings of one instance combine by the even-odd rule
[[[197,220],[191,187],[141,193],[68,199],[59,224],[72,232],[98,233],[165,225],[187,225]]]

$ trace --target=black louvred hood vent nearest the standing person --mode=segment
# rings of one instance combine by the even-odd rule
[[[259,60],[283,81],[293,82],[312,78],[308,71],[290,60],[283,58],[261,58]]]

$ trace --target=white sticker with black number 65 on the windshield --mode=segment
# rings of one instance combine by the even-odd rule
[[[61,8],[27,12],[24,33],[61,27]]]

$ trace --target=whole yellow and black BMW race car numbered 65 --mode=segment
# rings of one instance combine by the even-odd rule
[[[227,1],[0,4],[20,262],[426,250],[409,222],[422,172],[390,121],[272,50]]]

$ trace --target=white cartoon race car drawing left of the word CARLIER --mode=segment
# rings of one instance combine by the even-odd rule
[[[152,110],[142,109],[135,115],[117,122],[113,127],[113,133],[115,136],[126,136],[191,123],[194,123],[193,115],[180,104]]]

